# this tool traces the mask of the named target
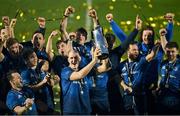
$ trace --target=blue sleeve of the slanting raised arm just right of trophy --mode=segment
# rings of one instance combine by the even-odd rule
[[[118,39],[123,42],[127,36],[126,34],[123,32],[123,30],[117,25],[117,23],[115,21],[111,21],[110,22],[111,28],[114,32],[114,34],[118,37]]]

